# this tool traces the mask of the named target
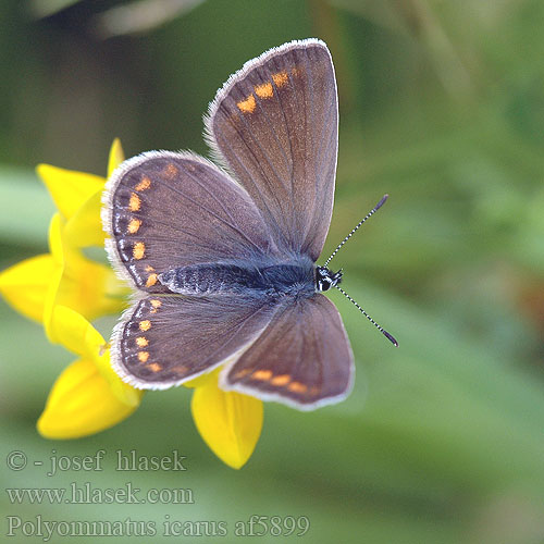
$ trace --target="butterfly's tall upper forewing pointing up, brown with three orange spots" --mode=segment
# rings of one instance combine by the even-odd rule
[[[331,222],[338,139],[326,46],[292,41],[247,62],[218,91],[206,126],[277,246],[316,261]]]

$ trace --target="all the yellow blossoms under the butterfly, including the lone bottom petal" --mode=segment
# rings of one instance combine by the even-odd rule
[[[108,175],[122,160],[115,140]],[[143,392],[114,373],[104,339],[90,324],[100,316],[119,313],[128,290],[110,267],[84,255],[84,248],[103,248],[100,208],[106,180],[47,164],[37,172],[59,210],[49,228],[50,252],[2,272],[0,293],[21,313],[42,322],[50,342],[78,356],[58,378],[37,424],[48,438],[75,438],[119,423],[140,403]],[[259,440],[262,401],[222,391],[218,374],[186,384],[195,388],[193,418],[212,452],[239,469]]]

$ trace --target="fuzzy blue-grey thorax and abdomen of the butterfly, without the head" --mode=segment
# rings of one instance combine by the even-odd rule
[[[213,293],[292,295],[316,293],[316,267],[307,256],[288,260],[234,260],[180,267],[159,275],[171,292],[183,295]]]

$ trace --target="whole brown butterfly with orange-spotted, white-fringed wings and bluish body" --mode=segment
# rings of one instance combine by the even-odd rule
[[[226,391],[302,410],[339,401],[354,356],[322,292],[342,272],[316,264],[338,141],[325,44],[290,41],[248,61],[217,92],[205,125],[215,163],[150,151],[107,183],[108,255],[135,289],[112,334],[112,366],[139,388],[223,366]]]

